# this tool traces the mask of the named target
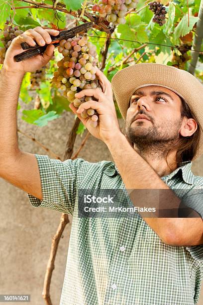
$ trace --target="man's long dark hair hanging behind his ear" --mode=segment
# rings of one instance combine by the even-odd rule
[[[169,152],[172,152],[175,150],[177,151],[177,153],[176,153],[177,166],[179,166],[179,164],[181,162],[189,161],[189,160],[193,159],[193,157],[195,156],[195,154],[198,150],[198,145],[200,143],[200,135],[201,135],[201,133],[200,133],[201,126],[199,125],[195,114],[191,111],[190,107],[184,101],[183,98],[181,98],[181,101],[182,101],[181,118],[187,117],[188,119],[191,119],[191,118],[194,119],[198,125],[198,128],[192,136],[183,137],[182,135],[180,135],[179,141],[176,144],[172,145],[172,147],[170,148]],[[167,154],[166,154],[166,162],[167,162],[167,156],[168,156],[169,152],[167,152]],[[169,166],[168,162],[167,162],[167,165]],[[169,166],[169,168],[170,168],[170,166]]]

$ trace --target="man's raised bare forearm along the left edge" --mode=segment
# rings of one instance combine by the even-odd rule
[[[0,160],[19,152],[17,103],[24,74],[0,71]]]

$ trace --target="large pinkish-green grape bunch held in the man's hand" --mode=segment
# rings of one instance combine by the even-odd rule
[[[96,79],[98,63],[96,46],[88,41],[86,36],[63,39],[60,41],[58,51],[63,54],[63,59],[58,61],[58,71],[54,72],[52,79],[56,88],[63,91],[69,102],[75,107],[93,100],[94,97],[84,96],[75,98],[75,94],[83,89],[96,89],[99,87]],[[90,108],[81,113],[82,118],[91,118],[91,126],[98,125],[99,115]]]

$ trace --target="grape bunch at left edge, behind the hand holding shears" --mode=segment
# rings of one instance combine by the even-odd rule
[[[2,30],[3,37],[0,38],[1,43],[3,43],[4,45],[3,47],[0,48],[0,64],[2,64],[4,61],[5,53],[8,47],[10,46],[12,39],[23,33],[22,30],[19,30],[18,26],[14,26],[14,27],[12,25],[8,26],[8,24],[9,21],[7,20]]]

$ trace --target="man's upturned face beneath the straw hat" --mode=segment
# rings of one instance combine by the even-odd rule
[[[179,138],[182,125],[181,99],[173,91],[160,86],[146,86],[131,96],[127,110],[125,134],[130,142],[142,149],[170,145]],[[137,120],[145,115],[148,120]],[[158,148],[158,147],[157,147]]]

